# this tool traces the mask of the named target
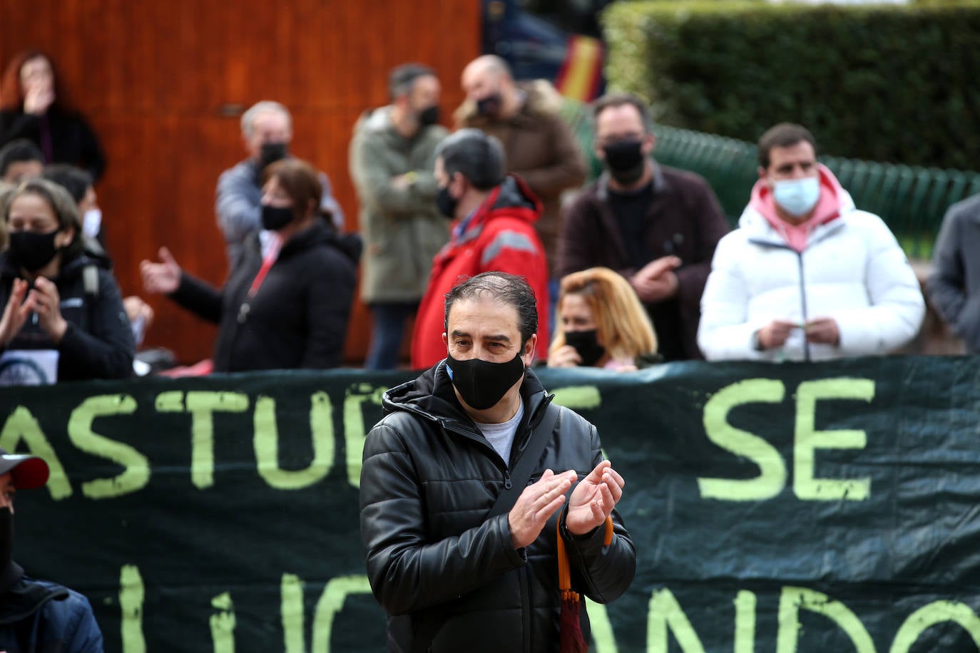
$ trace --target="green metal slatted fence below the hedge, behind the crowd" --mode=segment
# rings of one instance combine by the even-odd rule
[[[568,119],[593,173],[601,166],[592,154],[592,125],[584,105],[568,102]],[[664,165],[705,177],[734,226],[759,178],[755,144],[734,138],[658,125],[655,157]],[[980,193],[980,173],[821,157],[858,209],[880,215],[909,258],[932,257],[932,246],[950,205]]]

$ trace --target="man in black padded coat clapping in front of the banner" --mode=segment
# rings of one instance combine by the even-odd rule
[[[526,282],[476,275],[446,296],[445,315],[448,357],[385,393],[365,444],[361,533],[388,648],[557,651],[559,536],[574,590],[605,603],[633,579],[613,510],[624,482],[595,427],[549,407],[528,368],[537,307]],[[579,618],[587,640],[584,607]]]

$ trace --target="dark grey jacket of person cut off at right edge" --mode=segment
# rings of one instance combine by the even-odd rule
[[[967,350],[980,352],[980,195],[946,211],[927,292]]]

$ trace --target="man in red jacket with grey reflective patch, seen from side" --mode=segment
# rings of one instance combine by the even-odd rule
[[[446,357],[441,337],[446,293],[461,277],[480,272],[510,272],[527,280],[538,304],[538,342],[548,342],[548,264],[534,230],[541,202],[519,177],[504,170],[500,141],[479,129],[461,129],[436,151],[436,204],[454,220],[453,234],[432,261],[418,306],[412,340],[416,369]]]

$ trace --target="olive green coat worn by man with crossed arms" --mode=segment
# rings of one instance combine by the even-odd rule
[[[417,302],[425,293],[432,258],[449,241],[450,220],[436,210],[432,173],[447,133],[432,125],[405,138],[391,122],[391,107],[367,112],[354,127],[350,169],[361,205],[366,303]],[[392,184],[410,171],[416,179],[408,188]]]

